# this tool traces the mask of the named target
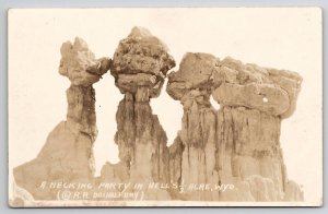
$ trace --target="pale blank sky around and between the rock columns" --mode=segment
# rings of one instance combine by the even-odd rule
[[[66,119],[66,90],[59,75],[60,46],[82,37],[96,57],[113,57],[133,26],[162,39],[179,64],[185,52],[231,56],[243,62],[286,69],[303,78],[294,115],[283,120],[281,146],[290,179],[305,200],[323,195],[323,57],[318,8],[11,10],[9,12],[9,167],[36,157],[48,133]],[[178,67],[173,70],[177,70]],[[116,163],[115,114],[122,98],[107,73],[96,90],[97,175]],[[171,144],[181,126],[183,107],[162,90],[151,100]]]

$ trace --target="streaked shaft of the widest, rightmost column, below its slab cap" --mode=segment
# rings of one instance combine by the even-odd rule
[[[236,187],[246,182],[243,191],[250,192],[249,201],[281,201],[286,175],[279,141],[280,123],[279,117],[257,109],[223,107],[219,110],[220,181],[233,181]],[[224,192],[221,199],[234,200],[236,193]]]

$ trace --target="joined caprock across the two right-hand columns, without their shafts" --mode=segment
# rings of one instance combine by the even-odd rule
[[[302,78],[294,72],[243,64],[208,54],[186,54],[179,72],[169,74],[167,93],[181,99],[192,88],[212,90],[222,106],[256,108],[286,118],[295,110]]]

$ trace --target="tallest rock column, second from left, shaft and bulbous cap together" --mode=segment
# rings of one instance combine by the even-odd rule
[[[105,165],[102,180],[144,185],[169,181],[166,133],[150,106],[150,98],[160,95],[166,72],[175,66],[167,51],[159,38],[141,27],[134,27],[119,43],[110,73],[125,94],[116,114],[120,163]],[[165,191],[148,191],[145,199],[168,199]]]

